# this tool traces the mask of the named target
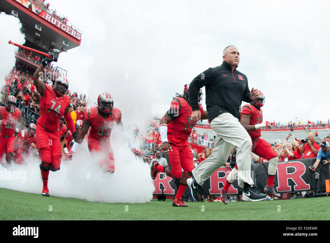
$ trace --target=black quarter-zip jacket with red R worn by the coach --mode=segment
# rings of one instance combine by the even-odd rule
[[[188,89],[192,110],[199,110],[198,92],[205,86],[209,122],[225,112],[240,119],[242,101],[249,103],[251,100],[248,78],[236,68],[232,71],[231,66],[223,61],[220,66],[210,67],[196,76]]]

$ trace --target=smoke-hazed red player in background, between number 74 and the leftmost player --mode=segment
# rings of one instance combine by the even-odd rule
[[[15,163],[22,164],[23,157],[30,154],[30,149],[37,149],[37,139],[36,139],[36,124],[30,123],[28,130],[22,129],[21,132],[15,138],[15,144],[17,144],[17,149],[15,151]]]

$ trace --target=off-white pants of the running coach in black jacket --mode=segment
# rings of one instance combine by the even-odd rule
[[[238,185],[243,188],[244,182],[248,182],[250,185],[254,184],[251,179],[252,142],[248,132],[230,113],[218,115],[210,125],[216,133],[214,150],[210,157],[193,169],[192,174],[196,182],[203,185],[215,170],[223,166],[234,145],[237,150]]]

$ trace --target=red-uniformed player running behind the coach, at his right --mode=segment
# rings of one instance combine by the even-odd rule
[[[259,99],[257,99],[256,101],[252,101],[250,104],[246,104],[242,107],[241,124],[247,130],[248,134],[252,139],[252,152],[258,155],[259,157],[263,157],[269,160],[268,182],[264,188],[264,191],[267,194],[270,194],[274,197],[280,197],[280,195],[276,192],[273,183],[279,157],[272,149],[272,146],[268,142],[260,138],[261,136],[260,128],[271,126],[271,124],[268,121],[263,121],[261,107],[265,103],[265,96],[260,90],[258,90],[258,92],[259,92]],[[237,172],[238,172],[238,168],[237,165],[235,165],[235,168],[229,173],[224,187],[220,189],[221,201],[224,204],[227,204],[228,188],[230,184],[233,183],[233,181],[237,177]],[[245,195],[244,192],[242,199],[245,201],[250,201],[250,199],[248,198],[248,196]],[[260,200],[255,200],[255,201],[260,201]]]

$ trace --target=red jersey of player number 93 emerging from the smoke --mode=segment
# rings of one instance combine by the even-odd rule
[[[121,111],[114,107],[107,119],[103,119],[99,107],[90,107],[85,113],[85,119],[91,123],[88,137],[100,140],[110,138],[111,130],[121,120]]]

